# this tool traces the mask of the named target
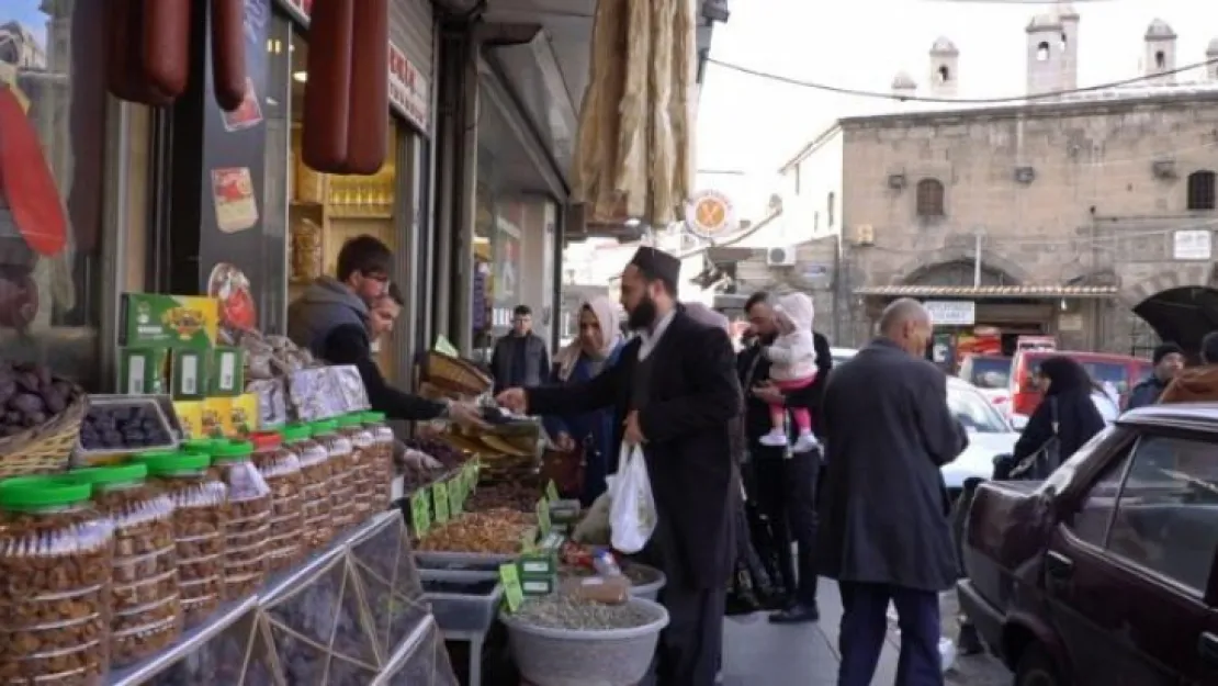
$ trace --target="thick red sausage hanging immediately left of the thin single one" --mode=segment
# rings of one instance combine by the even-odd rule
[[[192,0],[145,0],[143,34],[144,77],[149,85],[177,99],[190,82],[190,6]]]

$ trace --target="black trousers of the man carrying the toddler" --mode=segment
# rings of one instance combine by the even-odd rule
[[[794,601],[816,604],[816,481],[820,451],[783,457],[782,448],[753,447],[758,507],[770,520],[782,585]],[[793,557],[790,543],[795,543]]]

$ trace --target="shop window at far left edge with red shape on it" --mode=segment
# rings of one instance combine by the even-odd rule
[[[106,2],[0,4],[0,358],[97,389]]]

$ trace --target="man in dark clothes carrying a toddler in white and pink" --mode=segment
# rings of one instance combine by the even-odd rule
[[[833,358],[825,336],[814,333],[816,380],[810,386],[783,395],[769,384],[770,361],[762,355],[765,346],[777,335],[769,294],[753,294],[744,305],[744,313],[756,335],[754,345],[737,356],[737,373],[745,396],[745,439],[758,491],[754,496],[772,535],[775,550],[766,552],[777,559],[778,575],[789,595],[787,607],[770,615],[770,621],[816,621],[820,619],[816,603],[816,480],[821,453],[812,450],[788,457],[786,448],[765,446],[759,440],[772,426],[770,402],[799,403],[810,408],[812,426],[820,433],[820,395]],[[792,542],[795,543],[797,556],[792,556]]]

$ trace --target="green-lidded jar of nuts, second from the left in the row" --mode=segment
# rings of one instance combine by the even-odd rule
[[[93,502],[114,529],[110,663],[127,665],[167,648],[181,635],[173,501],[149,484],[145,464],[68,473],[93,486]]]

